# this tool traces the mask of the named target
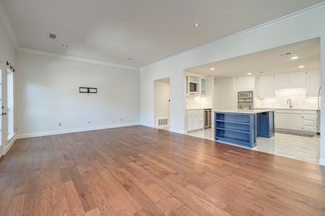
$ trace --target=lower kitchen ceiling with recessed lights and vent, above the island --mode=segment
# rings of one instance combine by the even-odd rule
[[[277,54],[293,54],[278,56]],[[291,57],[298,57],[292,60]],[[299,68],[299,66],[305,66]],[[210,68],[214,68],[211,70]],[[320,39],[315,38],[286,46],[255,52],[235,58],[186,69],[186,71],[214,78],[275,74],[320,68]]]

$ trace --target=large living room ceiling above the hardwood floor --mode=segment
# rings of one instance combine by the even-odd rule
[[[140,68],[324,0],[1,2],[16,48]],[[194,28],[196,23],[200,27]]]

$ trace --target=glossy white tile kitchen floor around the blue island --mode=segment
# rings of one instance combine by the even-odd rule
[[[214,140],[212,128],[190,132],[187,135]],[[253,150],[319,164],[319,145],[319,135],[305,137],[275,133],[271,138],[257,137]]]

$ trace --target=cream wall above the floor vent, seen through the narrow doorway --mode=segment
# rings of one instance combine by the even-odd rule
[[[170,119],[170,82],[154,81],[154,124],[157,126],[156,118],[168,117]]]

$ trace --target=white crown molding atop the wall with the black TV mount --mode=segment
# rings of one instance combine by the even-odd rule
[[[64,58],[64,59],[69,59],[69,60],[74,60],[74,61],[83,61],[83,62],[93,63],[93,64],[101,64],[101,65],[106,65],[106,66],[111,66],[111,67],[119,67],[119,68],[138,70],[138,71],[140,70],[138,67],[130,67],[130,66],[114,64],[114,63],[110,63],[110,62],[106,62],[106,61],[97,61],[97,60],[92,60],[92,59],[87,59],[87,58],[80,58],[80,57],[75,57],[75,56],[70,56],[70,55],[62,55],[62,54],[45,52],[45,51],[40,51],[40,50],[18,48],[17,51],[38,54],[38,55],[44,55],[44,56],[51,56],[51,57],[56,57],[56,58]]]

